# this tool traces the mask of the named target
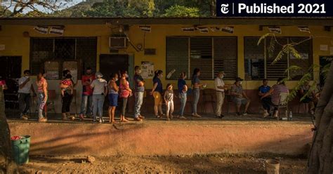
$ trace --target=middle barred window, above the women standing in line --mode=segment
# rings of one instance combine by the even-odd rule
[[[237,37],[166,37],[166,72],[176,69],[170,79],[180,72],[191,76],[199,68],[200,79],[211,80],[220,71],[226,79],[237,76]]]

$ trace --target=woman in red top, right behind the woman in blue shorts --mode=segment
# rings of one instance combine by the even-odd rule
[[[122,79],[120,79],[120,85],[119,85],[119,90],[120,90],[120,98],[122,98],[122,112],[120,113],[120,121],[122,122],[128,122],[125,118],[125,113],[126,113],[126,105],[127,105],[127,100],[129,97],[132,96],[132,90],[129,88],[129,81],[126,79],[129,78],[129,74],[127,74],[126,71],[122,72]]]

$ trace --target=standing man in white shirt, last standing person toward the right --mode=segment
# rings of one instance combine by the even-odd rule
[[[215,90],[216,90],[216,117],[222,119],[223,114],[222,113],[222,105],[224,100],[224,90],[225,90],[225,84],[223,82],[224,72],[218,72],[218,75],[215,78]]]

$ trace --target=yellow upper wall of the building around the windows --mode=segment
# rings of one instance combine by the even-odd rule
[[[30,37],[55,37],[53,34],[39,34],[34,31],[34,26],[20,26],[20,25],[2,25],[0,31],[0,44],[6,45],[6,50],[0,51],[0,56],[3,55],[21,55],[22,56],[22,71],[29,69],[29,57],[30,57],[30,38],[24,37],[23,32],[29,32]],[[100,54],[107,54],[108,48],[108,37],[112,34],[112,27],[110,25],[66,25],[63,36],[97,36],[98,48],[96,55],[96,65],[99,69],[99,58]],[[116,26],[117,27],[117,26]],[[141,65],[141,61],[154,62],[155,69],[162,69],[165,73],[166,67],[166,36],[237,36],[238,44],[238,61],[237,61],[237,74],[244,78],[244,36],[262,36],[268,33],[266,27],[263,31],[259,31],[258,25],[234,25],[235,31],[233,34],[226,32],[210,32],[208,34],[202,34],[200,32],[182,32],[181,27],[189,27],[186,25],[151,25],[152,32],[145,34],[145,48],[155,48],[156,55],[144,55],[143,51],[136,52],[131,46],[126,50],[120,51],[120,53],[133,54],[135,65]],[[223,27],[221,25],[207,25],[207,27]],[[320,51],[320,45],[325,44],[333,46],[333,34],[332,32],[325,32],[322,26],[310,26],[311,34],[306,32],[299,32],[296,26],[281,27],[282,34],[277,36],[310,36],[314,35],[313,39],[313,63],[319,64],[320,55],[329,55],[329,51]],[[117,30],[117,29],[116,29]],[[144,32],[138,27],[138,25],[132,25],[129,29],[129,39],[131,39],[134,45],[143,44]],[[318,37],[323,36],[323,37]],[[165,74],[164,74],[165,76]],[[315,79],[318,79],[319,74],[315,72]],[[208,83],[208,88],[214,86],[213,81],[203,81]],[[287,85],[292,88],[297,81],[289,81]],[[176,81],[162,80],[164,86],[166,83],[174,83]],[[190,83],[190,81],[188,81]],[[231,84],[233,81],[226,81]],[[271,84],[275,81],[270,81]],[[261,84],[261,81],[244,81],[244,88],[256,89]],[[152,87],[152,80],[148,79],[146,88]]]

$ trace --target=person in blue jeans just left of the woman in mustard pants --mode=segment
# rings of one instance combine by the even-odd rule
[[[134,120],[142,121],[145,117],[141,115],[141,105],[143,103],[143,94],[145,93],[145,81],[141,74],[141,68],[139,66],[134,67],[134,97],[135,97],[135,108],[134,108]]]

